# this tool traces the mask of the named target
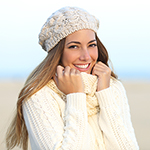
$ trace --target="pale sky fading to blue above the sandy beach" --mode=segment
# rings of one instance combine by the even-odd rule
[[[46,56],[38,34],[46,19],[64,6],[78,6],[100,21],[98,36],[120,76],[150,78],[149,0],[1,0],[0,78],[26,77]]]

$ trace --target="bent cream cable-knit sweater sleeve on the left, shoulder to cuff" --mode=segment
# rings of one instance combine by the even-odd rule
[[[23,102],[23,116],[32,149],[82,149],[87,133],[86,95],[67,95],[63,119],[50,90],[45,87]]]

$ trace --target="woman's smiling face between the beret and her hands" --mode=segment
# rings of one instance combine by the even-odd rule
[[[79,30],[66,37],[61,59],[64,67],[69,66],[90,74],[97,58],[98,48],[94,31]]]

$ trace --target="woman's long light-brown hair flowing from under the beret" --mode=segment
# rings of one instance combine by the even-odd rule
[[[98,60],[108,66],[108,53],[104,45],[96,35],[98,46]],[[61,56],[65,45],[65,38],[62,39],[47,55],[47,57],[39,64],[27,78],[23,89],[21,90],[18,101],[16,115],[7,130],[6,145],[8,149],[20,146],[23,150],[28,147],[28,132],[22,114],[22,102],[27,100],[42,87],[44,87],[55,74],[56,67],[61,63]],[[111,73],[113,77],[116,75]]]

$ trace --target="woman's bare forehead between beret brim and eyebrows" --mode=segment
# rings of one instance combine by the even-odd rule
[[[89,42],[95,39],[95,32],[89,29],[76,31],[66,37],[66,43],[70,41]]]

